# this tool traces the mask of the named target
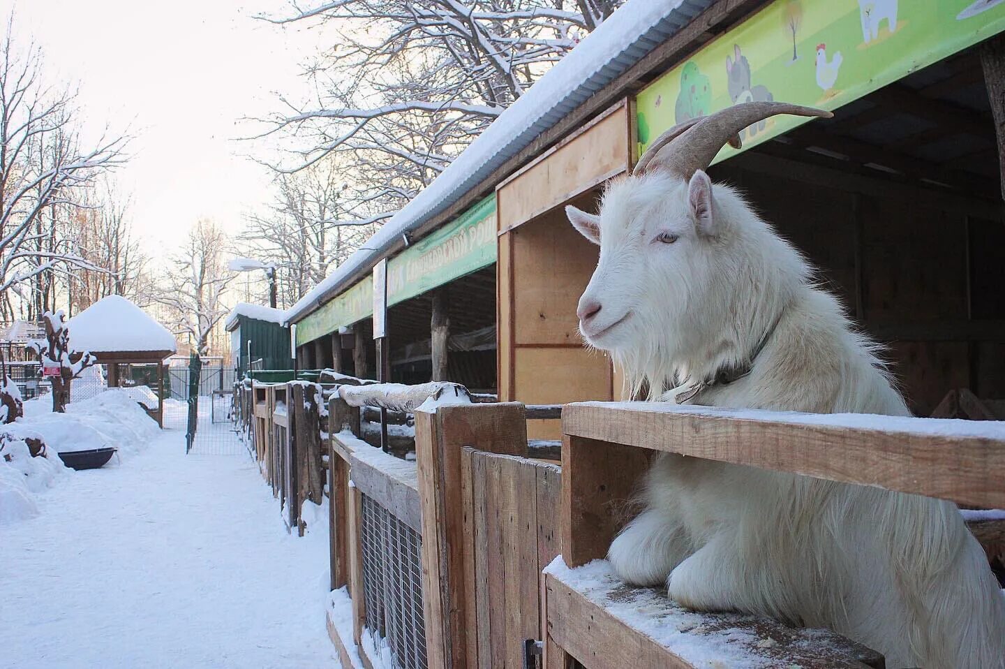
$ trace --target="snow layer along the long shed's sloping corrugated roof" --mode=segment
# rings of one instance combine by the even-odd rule
[[[687,25],[712,0],[628,0],[500,114],[428,187],[285,314],[295,321],[325,294],[388,255],[403,234],[445,210],[559,120]]]

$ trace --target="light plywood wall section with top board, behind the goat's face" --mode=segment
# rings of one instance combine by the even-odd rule
[[[622,104],[559,144],[496,190],[499,399],[551,404],[613,399],[609,358],[583,348],[576,305],[598,248],[564,205],[596,211],[598,187],[631,164]],[[531,421],[530,439],[561,438],[558,421]]]

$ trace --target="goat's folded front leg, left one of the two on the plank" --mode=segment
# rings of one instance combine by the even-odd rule
[[[658,586],[693,549],[686,530],[671,510],[648,508],[611,542],[607,558],[624,580],[635,586]]]

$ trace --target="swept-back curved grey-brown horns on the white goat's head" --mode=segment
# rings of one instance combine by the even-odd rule
[[[708,169],[716,154],[727,142],[740,148],[738,134],[741,130],[779,114],[822,119],[834,116],[824,110],[789,103],[759,102],[734,105],[711,116],[691,119],[660,135],[652,146],[646,149],[633,173],[641,174],[658,164],[684,179],[689,179],[697,170]],[[665,155],[660,156],[660,154]]]

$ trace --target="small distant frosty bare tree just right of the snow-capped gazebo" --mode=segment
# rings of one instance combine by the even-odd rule
[[[169,258],[153,301],[163,305],[174,331],[187,333],[200,356],[209,354],[210,335],[227,315],[224,292],[235,274],[227,269],[227,237],[208,218],[200,218],[181,249]]]

